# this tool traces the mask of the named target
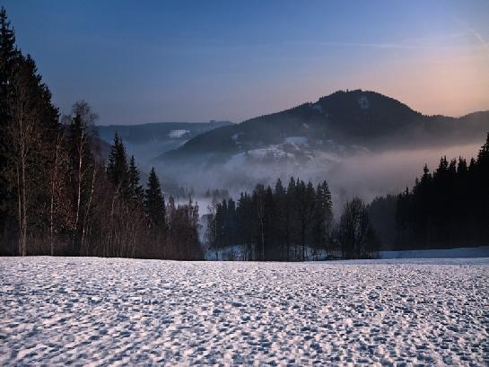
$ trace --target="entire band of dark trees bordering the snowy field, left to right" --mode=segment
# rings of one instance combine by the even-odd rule
[[[0,11],[0,255],[199,260],[239,246],[246,260],[376,258],[381,249],[489,242],[489,135],[468,163],[441,158],[414,188],[358,197],[335,222],[327,181],[291,178],[214,201],[205,214],[162,194],[153,169],[141,183],[116,134],[101,153],[98,116],[83,100],[61,115],[35,61]],[[204,225],[205,236],[199,236]]]

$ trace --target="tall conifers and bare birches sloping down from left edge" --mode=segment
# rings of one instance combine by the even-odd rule
[[[60,117],[2,8],[0,252],[203,258],[198,206],[166,204],[154,170],[144,189],[118,135],[105,162],[96,120],[84,101]]]

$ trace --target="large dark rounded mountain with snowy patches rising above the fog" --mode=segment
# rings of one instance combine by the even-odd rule
[[[247,160],[301,162],[317,153],[341,154],[389,146],[478,141],[489,131],[489,111],[462,118],[424,116],[377,92],[335,92],[315,103],[251,118],[197,135],[163,153],[163,162]]]

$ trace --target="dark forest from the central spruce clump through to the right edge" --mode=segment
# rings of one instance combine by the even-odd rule
[[[442,157],[415,186],[365,205],[347,201],[335,223],[327,182],[261,184],[214,202],[206,215],[213,258],[306,260],[377,258],[380,250],[449,249],[489,244],[489,134],[476,158]],[[233,246],[236,251],[223,251]]]

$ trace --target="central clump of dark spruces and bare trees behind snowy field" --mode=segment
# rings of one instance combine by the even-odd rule
[[[216,258],[219,250],[238,246],[246,260],[292,261],[317,258],[374,258],[379,241],[366,206],[347,202],[333,225],[327,182],[291,178],[285,188],[258,184],[251,192],[214,202],[207,215],[205,237]],[[322,254],[322,256],[320,256]]]

